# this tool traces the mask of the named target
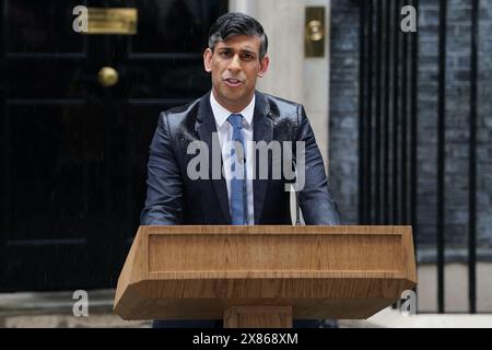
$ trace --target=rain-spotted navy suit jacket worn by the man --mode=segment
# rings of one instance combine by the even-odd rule
[[[339,224],[321,154],[302,105],[256,92],[253,119],[254,141],[304,141],[305,186],[300,192],[300,206],[306,224]],[[190,179],[188,163],[196,154],[187,147],[196,140],[209,145],[212,159],[212,137],[216,132],[210,106],[210,92],[190,104],[161,113],[150,145],[148,192],[140,222],[142,225],[231,224],[225,179]],[[295,154],[295,151],[294,151]],[[269,165],[273,161],[269,154]],[[288,180],[254,179],[255,224],[291,224]],[[211,171],[210,171],[211,172]],[[212,178],[212,176],[210,176]]]

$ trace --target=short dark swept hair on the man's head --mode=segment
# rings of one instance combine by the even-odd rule
[[[241,12],[226,13],[212,24],[209,32],[209,48],[213,51],[216,43],[236,35],[258,36],[261,40],[259,59],[267,55],[268,38],[263,27],[257,20]]]

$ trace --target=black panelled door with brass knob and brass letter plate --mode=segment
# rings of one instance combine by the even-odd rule
[[[134,35],[82,35],[74,7],[136,8]],[[0,291],[115,287],[159,112],[210,89],[223,0],[1,0]],[[103,86],[110,67],[118,82]]]

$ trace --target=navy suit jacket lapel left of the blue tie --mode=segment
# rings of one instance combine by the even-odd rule
[[[200,102],[198,107],[197,124],[197,131],[200,140],[204,141],[209,149],[209,176],[211,178],[213,189],[215,190],[221,211],[226,221],[232,222],[227,199],[227,186],[224,177],[222,176],[222,153],[220,148],[218,150],[219,154],[215,154],[215,156],[220,156],[221,159],[221,178],[213,179],[212,177],[212,138],[215,138],[214,142],[216,142],[216,144],[220,143],[216,135],[215,119],[213,118],[212,107],[210,106],[210,93],[208,93]],[[213,208],[206,208],[206,210],[211,209]]]

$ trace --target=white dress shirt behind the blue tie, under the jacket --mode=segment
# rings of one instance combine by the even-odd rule
[[[231,147],[234,143],[231,142],[233,135],[233,127],[227,121],[232,112],[229,112],[222,107],[219,102],[216,102],[213,96],[213,91],[210,94],[210,105],[212,106],[213,117],[215,119],[216,131],[219,137],[219,142],[221,144],[222,160],[224,162],[223,174],[225,177],[225,183],[227,185],[227,198],[231,207]],[[243,138],[246,148],[246,199],[248,206],[248,224],[255,224],[255,207],[253,197],[253,115],[255,112],[255,95],[253,95],[251,102],[239,113],[243,119]],[[227,142],[230,141],[230,142]]]

